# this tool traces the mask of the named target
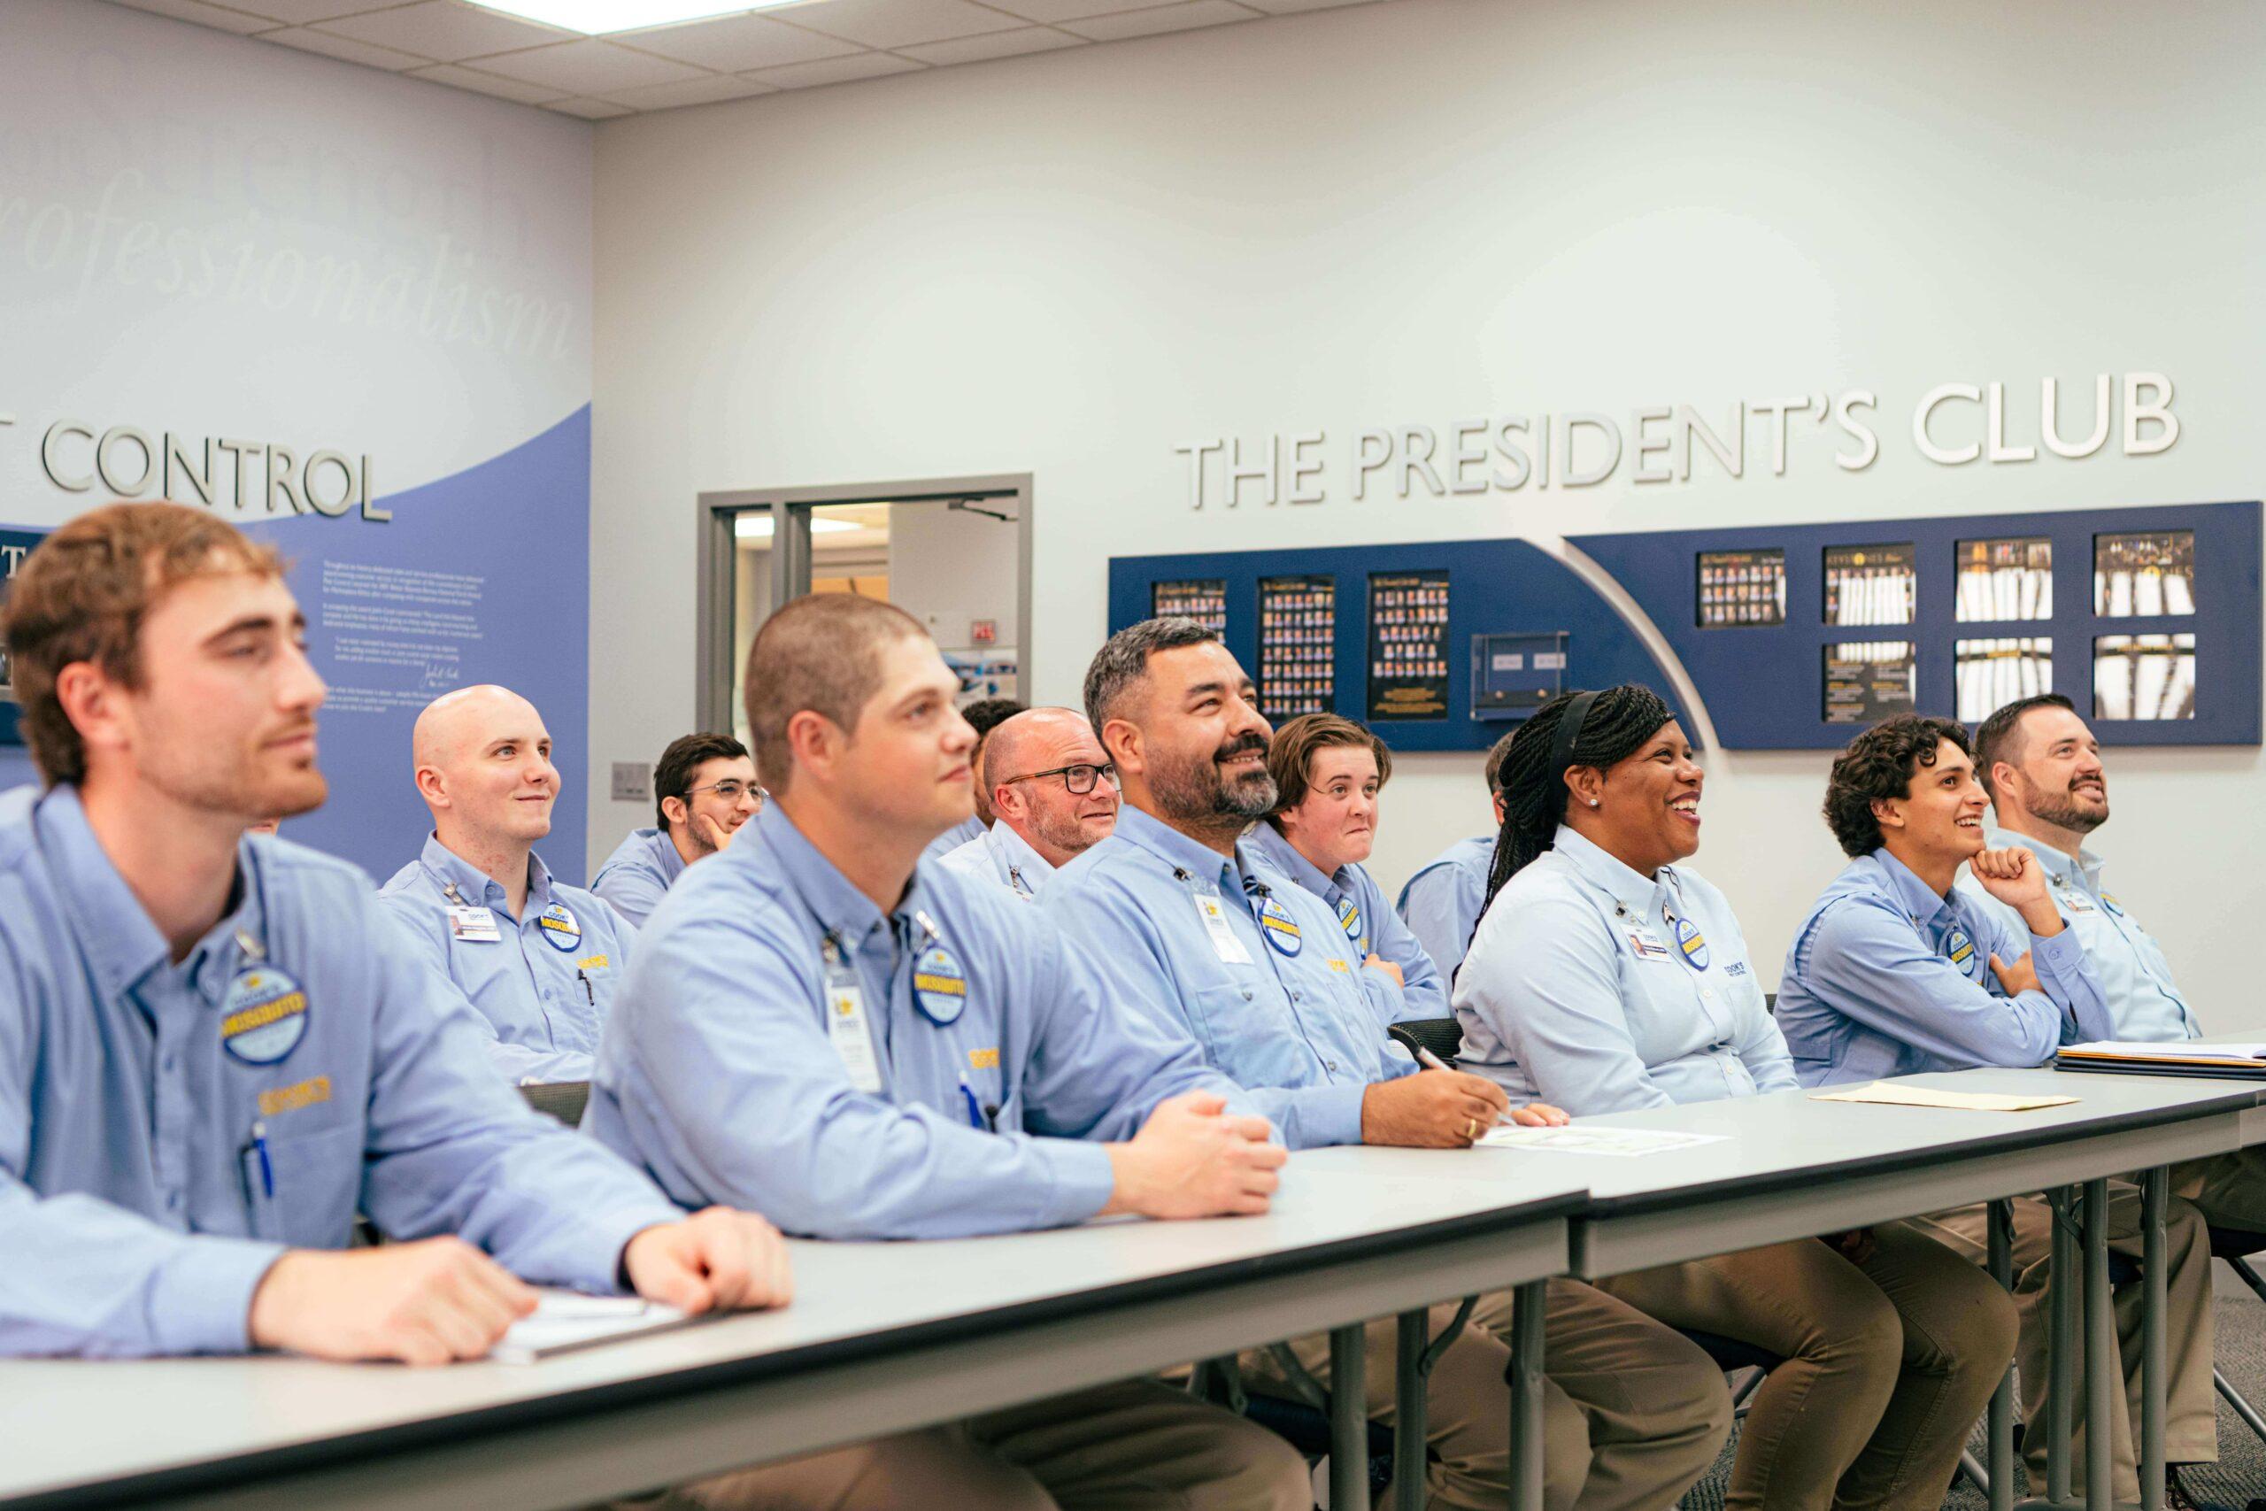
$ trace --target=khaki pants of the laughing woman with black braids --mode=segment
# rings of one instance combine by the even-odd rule
[[[1858,1262],[1797,1239],[1602,1284],[1663,1323],[1786,1359],[1740,1429],[1731,1509],[1933,1511],[2014,1352],[2005,1291],[1894,1226]]]

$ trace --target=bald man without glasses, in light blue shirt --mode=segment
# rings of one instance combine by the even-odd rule
[[[637,929],[535,854],[560,795],[544,716],[462,686],[426,705],[412,743],[433,834],[378,904],[480,1010],[514,1085],[589,1081]]]

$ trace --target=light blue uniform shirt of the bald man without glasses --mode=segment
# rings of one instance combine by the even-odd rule
[[[600,897],[551,879],[528,856],[528,906],[512,917],[503,886],[437,838],[378,890],[378,904],[458,985],[494,1031],[489,1058],[514,1085],[589,1081],[598,1028],[637,929]],[[487,929],[460,929],[487,908]]]

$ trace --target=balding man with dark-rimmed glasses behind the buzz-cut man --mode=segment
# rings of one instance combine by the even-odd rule
[[[940,865],[999,881],[1024,902],[1117,829],[1117,768],[1076,709],[1008,718],[983,741],[981,777],[993,825]]]

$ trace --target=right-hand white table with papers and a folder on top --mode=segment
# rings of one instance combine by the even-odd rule
[[[2051,1092],[2076,1096],[2073,1105],[2033,1112],[1965,1112],[1897,1108],[1876,1103],[1813,1101],[1811,1092],[1774,1092],[1733,1101],[1693,1103],[1647,1112],[1613,1112],[1595,1119],[1613,1128],[1663,1128],[1713,1133],[1724,1142],[1697,1144],[1645,1158],[1534,1153],[1518,1149],[1473,1149],[1441,1155],[1416,1149],[1330,1149],[1305,1155],[1323,1169],[1362,1173],[1387,1183],[1468,1180],[1500,1171],[1525,1178],[1543,1167],[1588,1187],[1588,1203],[1575,1223],[1573,1273],[1620,1275],[1709,1255],[1758,1248],[1797,1237],[1842,1232],[1944,1207],[1996,1203],[2033,1192],[2082,1187],[2101,1192],[2112,1176],[2153,1173],[2153,1212],[2162,1212],[2162,1169],[2225,1153],[2266,1139],[2266,1085],[2252,1081],[2191,1081],[2169,1076],[2064,1074],[2051,1069],[1969,1069],[1906,1076],[1899,1085],[1960,1092]],[[2146,1332],[2153,1339],[2146,1371],[2153,1386],[2141,1423],[2141,1504],[2162,1504],[2162,1337],[2164,1262],[2162,1219],[2146,1226],[2157,1262],[2144,1262]],[[2058,1337],[2073,1337],[2071,1305],[2082,1305],[2085,1341],[2096,1359],[2114,1359],[2116,1337],[2107,1287],[2107,1228],[2087,1226],[2085,1273],[2094,1284],[2058,1287],[2053,1321]],[[2076,1275],[2076,1239],[2069,1264]],[[2010,1280],[2003,1253],[1992,1273]],[[2055,1400],[2067,1400],[2076,1348],[2055,1348]],[[2096,1368],[2087,1380],[2089,1416],[2107,1414],[2107,1391],[2121,1373]],[[2069,1416],[2055,1409],[2046,1425],[2058,1445],[2055,1463],[2067,1466]],[[1992,1504],[2012,1504],[2012,1391],[2001,1386],[1992,1402],[1990,1432]],[[2087,1436],[2087,1486],[2082,1504],[2105,1506],[2107,1434]],[[2092,1454],[2098,1454],[2098,1463]],[[2098,1472],[2096,1472],[2098,1470]],[[2094,1488],[2101,1486],[2101,1488]],[[2067,1502],[2067,1468],[2055,1470],[2048,1502]],[[2094,1500],[2098,1497],[2098,1500]]]

